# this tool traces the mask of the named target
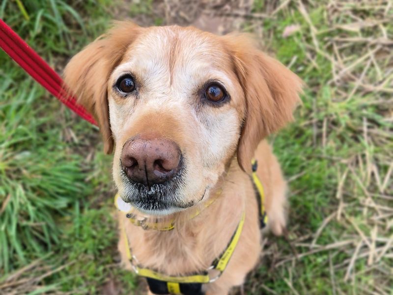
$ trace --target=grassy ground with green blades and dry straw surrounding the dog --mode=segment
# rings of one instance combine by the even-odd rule
[[[392,1],[2,0],[0,17],[59,73],[111,19],[254,33],[306,88],[270,138],[288,233],[263,240],[243,292],[393,294]],[[118,265],[97,129],[2,52],[0,65],[0,294],[139,294]]]

